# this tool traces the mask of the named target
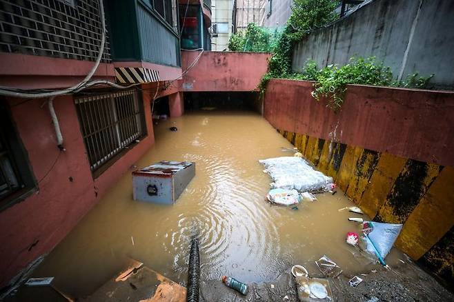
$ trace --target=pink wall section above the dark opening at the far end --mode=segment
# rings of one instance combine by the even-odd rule
[[[181,69],[193,63],[198,51],[181,51]],[[252,91],[268,70],[268,53],[203,52],[181,81],[182,91]]]

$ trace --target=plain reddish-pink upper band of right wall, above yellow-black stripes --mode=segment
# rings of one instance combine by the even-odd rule
[[[308,81],[271,80],[264,117],[282,130],[454,165],[454,92],[348,85],[334,113],[311,91]]]

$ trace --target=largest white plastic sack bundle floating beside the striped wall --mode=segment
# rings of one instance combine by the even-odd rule
[[[333,179],[314,170],[299,157],[275,157],[259,161],[273,179],[272,188],[295,189],[299,192],[330,190]]]

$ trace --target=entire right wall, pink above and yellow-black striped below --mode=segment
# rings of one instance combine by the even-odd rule
[[[271,80],[264,117],[368,216],[404,223],[398,248],[454,281],[454,92],[348,85],[334,113],[311,91]]]

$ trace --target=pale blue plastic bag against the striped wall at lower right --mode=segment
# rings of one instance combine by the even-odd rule
[[[385,259],[391,248],[393,248],[401,230],[402,224],[364,221],[362,231],[364,233],[363,240],[366,243],[366,251],[378,258],[382,257],[382,259]]]

